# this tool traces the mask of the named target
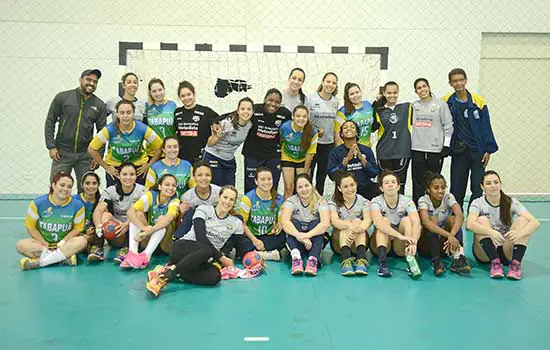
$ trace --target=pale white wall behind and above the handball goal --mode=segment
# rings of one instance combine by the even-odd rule
[[[126,4],[126,6],[124,6]],[[43,123],[53,96],[99,67],[97,94],[117,93],[118,43],[388,46],[388,80],[448,91],[460,66],[478,88],[482,32],[548,33],[550,5],[519,1],[14,1],[0,3],[0,116],[4,193],[41,193],[49,159]],[[288,72],[281,72],[285,76]],[[320,77],[308,76],[308,79]],[[489,104],[497,101],[488,101]],[[493,116],[499,118],[500,116]]]

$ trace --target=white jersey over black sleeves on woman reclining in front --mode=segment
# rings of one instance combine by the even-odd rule
[[[223,219],[219,218],[216,214],[216,209],[212,205],[199,205],[197,210],[195,210],[193,220],[197,218],[204,220],[206,224],[206,238],[217,250],[223,247],[231,235],[242,235],[244,233],[241,220],[233,215],[228,215]],[[195,228],[191,227],[191,230],[183,236],[183,239],[196,241]]]

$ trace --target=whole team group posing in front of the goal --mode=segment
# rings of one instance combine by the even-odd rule
[[[428,80],[417,79],[413,103],[398,101],[395,82],[381,87],[373,103],[347,83],[339,107],[335,73],[306,95],[305,72],[295,68],[282,91],[268,90],[261,104],[245,97],[220,116],[197,104],[188,81],[178,86],[181,107],[166,98],[157,78],[148,83],[148,101],[140,101],[134,73],[122,77],[123,95],[105,104],[94,94],[101,72],[86,70],[77,89],[56,95],[46,118],[51,185],[29,205],[30,238],[17,243],[25,256],[21,268],[74,265],[83,251],[89,261],[101,261],[107,240],[119,248],[114,260],[121,268],[146,268],[155,252],[169,254],[167,265],[148,274],[154,295],[174,279],[218,283],[220,268],[233,265],[232,249],[237,257],[257,251],[266,260],[280,260],[287,249],[293,275],[316,275],[329,243],[346,276],[368,273],[369,247],[380,276],[391,276],[387,259],[397,256],[419,277],[417,253],[431,259],[436,276],[445,272],[446,256],[451,271],[469,273],[462,225],[470,177],[466,227],[475,236],[474,256],[491,263],[491,277],[503,277],[507,264],[507,277],[520,279],[539,223],[504,194],[496,172],[485,171],[498,149],[487,106],[466,89],[462,69],[448,77],[454,93],[443,99]],[[241,145],[245,195],[239,201]],[[449,155],[450,193],[440,174]],[[409,163],[412,199],[404,196]],[[102,193],[98,166],[106,174]],[[71,197],[73,169],[79,181]],[[283,195],[277,193],[281,172]],[[327,176],[336,185],[330,201],[323,198]],[[109,222],[116,223],[114,237],[104,235]]]

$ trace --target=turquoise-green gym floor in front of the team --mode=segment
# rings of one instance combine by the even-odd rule
[[[527,203],[542,225],[519,282],[491,280],[474,262],[469,277],[436,279],[420,259],[419,281],[395,259],[389,279],[376,276],[376,262],[363,278],[340,276],[337,259],[316,278],[270,262],[257,279],[172,284],[157,300],[145,291],[146,271],[120,271],[110,260],[21,271],[15,243],[26,236],[27,204],[0,202],[2,350],[550,348],[548,203]]]

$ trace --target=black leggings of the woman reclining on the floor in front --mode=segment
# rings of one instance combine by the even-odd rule
[[[222,277],[220,270],[212,265],[214,248],[197,241],[180,239],[174,242],[169,263],[176,265],[176,273],[185,282],[202,286],[214,286]]]

